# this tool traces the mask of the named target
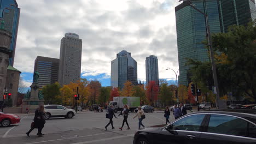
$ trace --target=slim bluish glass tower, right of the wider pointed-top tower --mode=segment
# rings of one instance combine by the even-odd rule
[[[146,82],[155,81],[158,84],[158,57],[149,56],[146,58]]]

